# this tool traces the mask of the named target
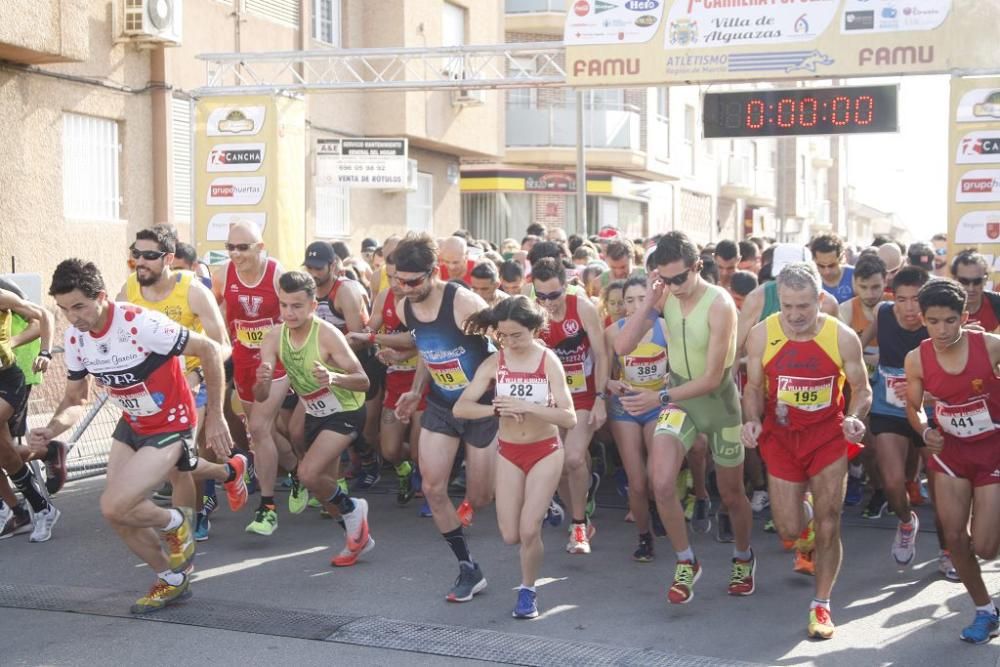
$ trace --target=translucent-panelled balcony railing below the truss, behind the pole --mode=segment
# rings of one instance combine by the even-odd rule
[[[587,107],[584,112],[584,143],[587,148],[639,151],[639,109],[625,105]],[[507,107],[507,146],[532,148],[576,146],[576,108]]]

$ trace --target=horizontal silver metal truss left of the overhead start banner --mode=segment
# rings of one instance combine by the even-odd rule
[[[479,90],[566,85],[561,42],[209,53],[203,95]]]

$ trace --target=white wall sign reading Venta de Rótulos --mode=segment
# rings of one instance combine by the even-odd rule
[[[406,187],[406,139],[317,139],[316,182],[351,188]]]

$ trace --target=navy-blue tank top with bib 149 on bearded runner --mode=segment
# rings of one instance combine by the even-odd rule
[[[455,293],[460,289],[468,288],[455,283],[444,286],[441,308],[431,322],[417,319],[409,300],[403,304],[406,324],[431,374],[428,400],[449,409],[472,381],[476,369],[494,352],[493,344],[485,336],[470,336],[455,326]],[[484,405],[493,402],[493,389],[483,394],[479,402]]]

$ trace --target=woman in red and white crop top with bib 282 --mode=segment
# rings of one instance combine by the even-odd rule
[[[542,567],[542,519],[563,469],[559,431],[576,423],[573,399],[559,358],[538,340],[545,313],[526,296],[482,310],[465,330],[495,332],[502,349],[476,369],[455,404],[460,419],[500,417],[496,471],[497,523],[507,544],[521,545],[521,586],[514,618],[535,618],[535,582]],[[481,397],[493,394],[493,404]]]

